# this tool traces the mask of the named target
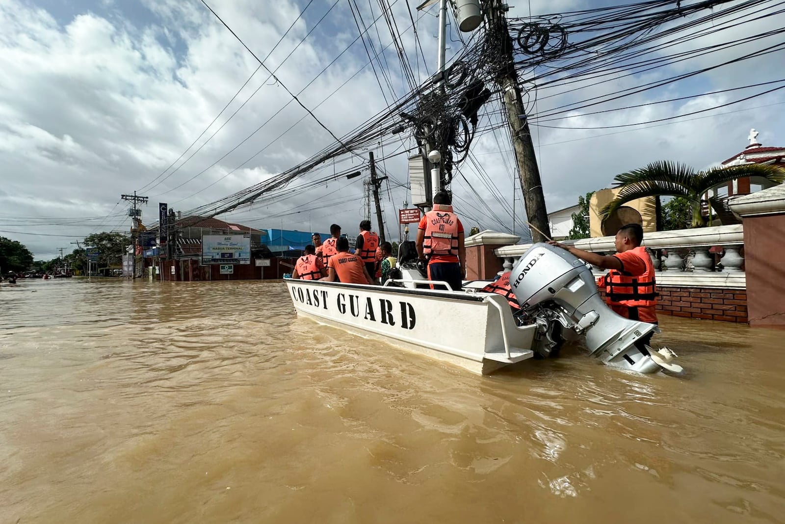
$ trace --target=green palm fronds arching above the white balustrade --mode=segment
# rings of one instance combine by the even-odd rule
[[[692,227],[700,227],[703,225],[700,213],[703,195],[717,185],[743,177],[763,178],[779,184],[785,181],[785,169],[767,164],[747,163],[696,171],[682,163],[666,160],[652,162],[641,169],[617,174],[613,179],[614,187],[621,188],[621,191],[600,212],[607,216],[625,203],[645,196],[681,196],[692,203]]]

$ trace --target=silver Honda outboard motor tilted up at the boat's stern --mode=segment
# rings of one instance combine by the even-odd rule
[[[513,267],[509,283],[524,313],[539,326],[535,350],[542,356],[557,350],[564,339],[582,335],[590,355],[606,365],[641,373],[681,370],[670,364],[672,351],[635,346],[657,329],[655,324],[631,321],[611,310],[591,270],[569,251],[534,244]]]

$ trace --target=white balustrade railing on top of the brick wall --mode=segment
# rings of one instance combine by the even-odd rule
[[[578,247],[584,251],[615,253],[615,238],[601,236],[581,240],[564,240],[563,244]],[[657,283],[660,285],[706,287],[706,288],[746,288],[744,258],[739,251],[744,245],[744,230],[741,224],[720,225],[717,227],[679,229],[677,231],[658,231],[644,234],[643,245],[648,247],[652,262],[657,270]],[[714,265],[711,247],[722,247],[721,268]],[[531,244],[516,244],[498,247],[494,253],[504,260],[505,270],[512,269],[514,262],[523,255]],[[667,252],[663,257],[662,251]],[[687,252],[685,257],[682,255]],[[597,269],[597,274],[601,271]]]

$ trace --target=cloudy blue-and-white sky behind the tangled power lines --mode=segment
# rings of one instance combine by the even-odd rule
[[[130,218],[126,202],[120,200],[122,193],[148,196],[142,218],[151,223],[157,220],[159,202],[187,211],[294,166],[329,145],[332,137],[292,103],[281,84],[299,93],[302,103],[338,136],[382,111],[393,95],[400,97],[408,90],[394,46],[387,48],[381,64],[374,60],[377,74],[385,69],[381,87],[362,43],[345,51],[358,34],[348,0],[208,3],[265,66],[277,68],[279,82],[258,69],[257,60],[198,0],[0,0],[0,236],[20,240],[35,258],[52,258],[58,247],[69,247],[89,233],[128,230]],[[414,8],[415,2],[410,3]],[[528,16],[529,2],[516,3],[520,5],[511,16]],[[376,0],[356,4],[366,24],[380,13]],[[771,4],[771,9],[779,9],[776,2]],[[594,0],[532,0],[531,13],[598,5]],[[436,67],[436,9],[419,17],[414,13],[425,62],[422,57],[415,59],[405,2],[395,2],[392,11],[414,74],[424,80]],[[769,16],[681,46],[688,49],[712,39],[718,43],[760,34],[778,27],[778,20]],[[372,42],[375,52],[390,43],[383,20],[368,35],[366,43]],[[714,65],[781,40],[782,35],[774,35],[642,75],[625,77],[620,71],[605,82],[581,86],[580,97]],[[461,50],[452,27],[448,43],[448,57]],[[549,209],[567,207],[582,193],[608,187],[615,174],[655,159],[678,160],[696,168],[721,162],[747,145],[750,127],[760,132],[758,140],[764,145],[785,145],[783,90],[723,108],[717,106],[765,88],[653,104],[783,79],[783,63],[783,52],[771,53],[586,111],[648,104],[642,107],[597,115],[573,112],[560,115],[568,118],[532,126]],[[541,114],[564,99],[541,93],[534,105],[531,93],[527,95],[528,103]],[[666,125],[612,127],[705,108],[716,110],[669,120]],[[411,145],[410,137],[402,137],[392,149]],[[375,155],[382,158],[392,152],[388,146],[377,148]],[[509,135],[504,130],[495,136],[486,134],[475,141],[473,152],[520,215]],[[355,161],[359,165],[359,160],[347,159],[313,177],[348,169]],[[385,221],[396,238],[396,209],[408,198],[405,156],[389,159],[383,167],[394,179],[383,189]],[[466,167],[464,173],[476,190],[475,194],[463,181],[453,188],[467,202],[463,209],[457,205],[458,211],[472,217],[465,225],[512,229],[506,211],[473,178],[478,176],[475,168]],[[480,200],[504,223],[489,216]],[[226,218],[262,228],[283,225],[322,231],[338,222],[346,233],[354,233],[363,214],[361,177],[314,186]]]

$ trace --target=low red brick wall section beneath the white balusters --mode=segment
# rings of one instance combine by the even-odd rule
[[[657,312],[674,317],[747,322],[747,292],[728,288],[657,286]]]

